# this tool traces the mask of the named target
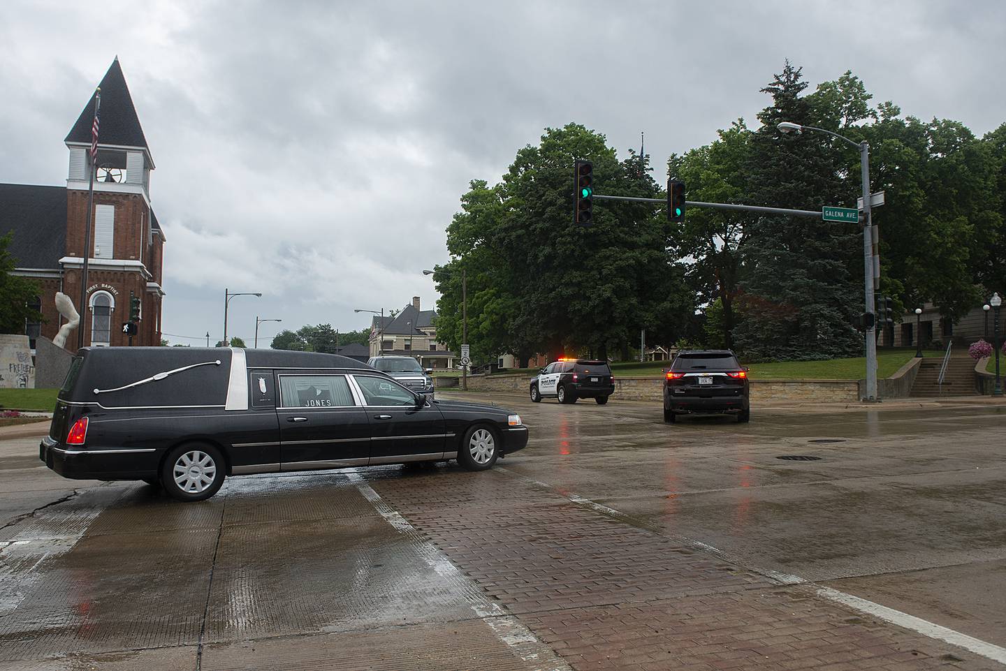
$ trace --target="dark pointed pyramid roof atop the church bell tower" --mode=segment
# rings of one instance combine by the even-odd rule
[[[140,118],[136,115],[133,97],[130,96],[129,87],[126,86],[123,68],[119,65],[119,56],[116,56],[99,87],[102,90],[102,107],[99,113],[98,144],[143,147],[149,154],[150,147],[147,146],[147,138],[143,135]],[[64,142],[90,145],[91,124],[94,118],[95,97],[92,94]]]

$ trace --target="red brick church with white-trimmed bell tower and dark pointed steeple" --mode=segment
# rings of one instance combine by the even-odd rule
[[[141,318],[134,345],[161,344],[161,268],[164,232],[150,201],[154,160],[143,135],[119,59],[100,85],[102,104],[95,175],[87,304],[80,306],[88,187],[92,162],[91,128],[94,96],[64,140],[69,152],[66,186],[0,184],[0,235],[13,233],[8,251],[14,273],[37,281],[36,307],[41,323],[28,323],[25,333],[52,339],[65,323],[56,311],[58,291],[80,314],[86,346],[128,344],[123,325],[130,318],[132,297],[140,299]],[[77,331],[66,339],[76,349]]]

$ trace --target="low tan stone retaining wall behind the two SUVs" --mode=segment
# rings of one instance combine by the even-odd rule
[[[525,394],[532,377],[528,375],[469,375],[470,391],[502,391]],[[661,401],[664,378],[615,376],[614,398],[620,400]],[[856,380],[751,380],[751,400],[815,400],[821,402],[857,401]]]

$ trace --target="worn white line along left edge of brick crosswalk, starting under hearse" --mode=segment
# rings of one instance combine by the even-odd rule
[[[381,517],[402,533],[410,533],[416,537],[420,553],[427,564],[437,571],[438,574],[451,579],[471,583],[464,573],[429,540],[420,539],[420,533],[408,520],[401,516],[397,510],[389,506],[380,494],[363,481],[357,473],[347,474],[349,481],[356,485],[356,489],[369,501],[374,510]],[[499,604],[495,604],[485,598],[481,589],[473,585],[473,594],[480,595],[480,601],[472,605],[472,611],[479,619],[492,630],[493,634],[508,646],[513,652],[525,662],[535,664],[535,671],[572,671],[562,658],[558,657],[551,648],[541,642],[531,630],[522,625],[520,621],[509,614]]]

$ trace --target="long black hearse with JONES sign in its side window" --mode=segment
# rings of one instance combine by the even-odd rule
[[[520,416],[429,401],[344,356],[232,347],[79,350],[45,465],[66,478],[143,480],[182,501],[223,478],[457,459],[481,471],[527,445]]]

